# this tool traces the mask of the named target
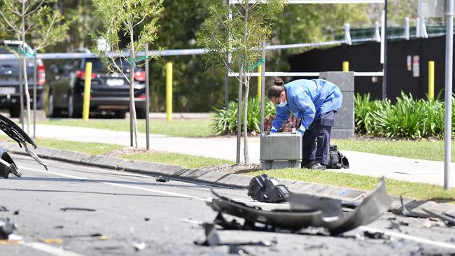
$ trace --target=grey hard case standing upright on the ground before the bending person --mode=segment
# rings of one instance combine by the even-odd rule
[[[260,162],[262,169],[300,168],[302,134],[296,131],[260,134]]]

